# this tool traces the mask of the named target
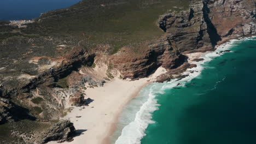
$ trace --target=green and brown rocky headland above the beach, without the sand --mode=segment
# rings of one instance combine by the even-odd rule
[[[156,12],[149,10],[159,9],[154,7],[158,3],[145,1],[138,1],[136,8],[153,16]],[[174,1],[161,2],[165,6],[160,8],[167,5],[171,10],[159,17],[157,26],[149,26],[153,21],[144,15],[138,15],[142,23],[133,20],[133,13],[114,13],[135,4],[126,0],[106,4],[82,1],[45,13],[27,28],[1,22],[0,124],[22,119],[56,120],[68,106],[93,101],[86,99],[85,87],[103,86],[113,75],[119,76],[117,71],[124,79],[138,79],[164,67],[168,72],[161,81],[165,81],[195,67],[187,62],[187,53],[212,51],[226,40],[255,35],[253,0],[182,1],[178,8],[171,8]],[[154,33],[158,30],[162,32]],[[95,63],[100,72],[94,69]]]

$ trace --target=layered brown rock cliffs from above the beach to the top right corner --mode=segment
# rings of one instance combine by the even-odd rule
[[[211,51],[226,40],[255,34],[255,9],[253,0],[191,2],[189,10],[160,17],[158,24],[165,35],[146,44],[145,55],[136,57],[124,49],[114,63],[131,79],[147,76],[160,66],[177,68],[186,61],[183,53]]]

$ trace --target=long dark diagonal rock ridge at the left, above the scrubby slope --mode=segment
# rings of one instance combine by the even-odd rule
[[[42,54],[44,53],[37,53],[37,55]],[[43,57],[44,56],[36,57],[37,60],[35,60],[35,57],[31,58],[30,61],[35,61],[31,63],[33,63],[34,65],[38,65],[35,68],[31,68],[31,70],[36,70],[33,75],[22,72],[22,70],[20,73],[20,69],[13,70],[13,73],[17,73],[18,75],[10,75],[10,73],[8,73],[8,69],[1,71],[0,78],[3,84],[0,89],[0,97],[10,98],[11,95],[30,92],[30,89],[33,89],[42,83],[59,80],[66,75],[71,74],[73,70],[77,70],[82,65],[94,62],[95,54],[92,53],[91,55],[88,55],[88,53],[84,49],[76,48],[73,49],[71,52],[67,53],[66,55],[59,57],[60,59],[48,59],[48,61],[51,63],[45,65],[38,63],[38,61]],[[24,68],[30,68],[28,66],[30,64],[30,61],[27,59],[25,61],[26,63],[22,63],[20,67],[23,66]],[[11,66],[13,65],[9,65],[9,67]],[[40,67],[46,67],[49,69],[43,69],[40,71]],[[11,77],[11,80],[4,79],[4,77]],[[14,87],[13,85],[16,86]]]

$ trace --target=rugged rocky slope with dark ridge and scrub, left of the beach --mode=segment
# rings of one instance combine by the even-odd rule
[[[27,49],[30,48],[28,44]],[[0,71],[0,123],[36,119],[30,112],[43,119],[57,119],[68,101],[67,95],[73,95],[73,89],[63,89],[65,86],[61,84],[66,81],[60,82],[60,79],[82,65],[90,66],[95,57],[94,53],[89,54],[78,47],[63,55],[59,50],[56,56],[49,56],[48,51],[38,49],[40,47],[34,46],[33,50],[30,49],[31,53],[25,55],[26,58],[22,55],[6,57],[16,62],[0,64],[4,68]],[[2,59],[5,60],[5,57]]]

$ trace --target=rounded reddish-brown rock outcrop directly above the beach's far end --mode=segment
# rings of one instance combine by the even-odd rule
[[[181,55],[172,41],[165,37],[140,45],[138,51],[129,51],[123,47],[113,56],[112,63],[120,70],[124,78],[146,77],[154,73],[161,65],[172,69],[185,61],[185,56]]]

